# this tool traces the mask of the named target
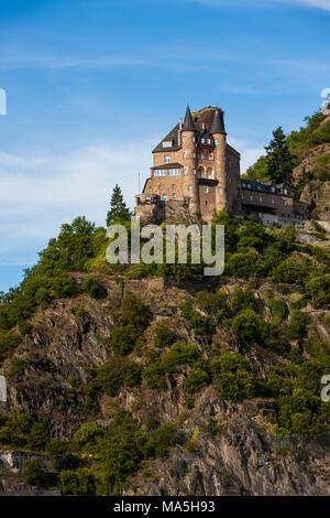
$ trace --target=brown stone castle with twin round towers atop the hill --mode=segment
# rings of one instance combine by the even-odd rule
[[[301,223],[308,206],[296,202],[284,184],[241,179],[240,153],[227,142],[224,114],[207,107],[190,112],[153,150],[154,164],[135,213],[162,223],[170,216],[199,214],[211,222],[215,208],[255,214],[265,224]]]

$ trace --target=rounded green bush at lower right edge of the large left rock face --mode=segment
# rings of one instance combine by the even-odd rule
[[[97,382],[105,392],[117,396],[122,386],[138,387],[141,382],[141,367],[121,356],[111,357],[97,371]]]

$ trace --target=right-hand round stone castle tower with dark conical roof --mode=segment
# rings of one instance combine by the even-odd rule
[[[227,182],[226,182],[226,144],[227,133],[224,130],[223,111],[217,109],[211,123],[210,133],[215,139],[215,176],[219,184],[216,191],[216,208],[227,207]]]

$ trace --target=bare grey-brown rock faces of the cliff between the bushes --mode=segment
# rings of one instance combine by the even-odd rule
[[[158,423],[172,422],[178,429],[178,441],[167,457],[144,462],[138,474],[127,483],[132,495],[319,495],[330,494],[329,451],[304,438],[276,438],[272,432],[270,416],[277,408],[272,398],[252,398],[237,403],[224,400],[210,385],[196,397],[194,408],[186,404],[185,379],[187,371],[166,376],[166,386],[153,390],[121,389],[113,398],[96,395],[87,401],[87,392],[73,390],[70,378],[88,385],[92,374],[113,354],[109,339],[114,326],[113,310],[121,303],[120,285],[109,277],[99,277],[106,290],[100,300],[91,299],[80,290],[86,274],[75,274],[75,296],[52,302],[33,316],[33,327],[15,355],[24,359],[24,371],[8,376],[8,400],[0,403],[6,413],[19,407],[33,420],[46,424],[52,438],[70,441],[74,432],[86,421],[107,428],[113,418],[113,403],[132,412],[140,425],[153,416]],[[221,279],[218,289],[229,293],[244,281]],[[193,343],[206,358],[212,347],[240,352],[255,361],[260,376],[267,367],[282,366],[284,359],[253,344],[242,345],[233,334],[219,327],[208,343],[196,334],[182,317],[178,306],[194,298],[196,291],[210,289],[206,284],[187,284],[178,289],[164,279],[125,281],[124,292],[142,296],[152,312],[145,332],[146,345],[152,344],[157,322],[168,322],[178,339]],[[215,287],[212,287],[215,289]],[[265,307],[267,284],[258,281],[256,303]],[[292,291],[297,291],[297,288]],[[289,293],[277,295],[286,303]],[[77,311],[77,307],[80,311]],[[310,330],[317,328],[321,313],[311,306]],[[329,343],[328,331],[324,330]],[[293,347],[297,347],[294,341]],[[138,363],[141,357],[131,355]],[[2,365],[9,371],[9,359]],[[193,439],[191,439],[193,438]],[[187,447],[187,441],[193,444]],[[0,492],[26,489],[20,481],[24,451],[6,450],[0,454]],[[43,461],[47,465],[47,461]]]

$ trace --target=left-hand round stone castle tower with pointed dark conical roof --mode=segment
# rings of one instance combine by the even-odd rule
[[[184,196],[190,197],[190,213],[195,214],[199,211],[198,183],[197,183],[197,158],[196,158],[196,132],[190,108],[187,111],[182,130],[182,149],[184,165]]]

